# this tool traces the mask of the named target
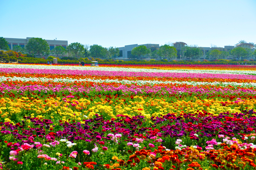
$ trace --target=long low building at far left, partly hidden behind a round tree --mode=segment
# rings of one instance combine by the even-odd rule
[[[25,47],[29,39],[31,39],[31,37],[27,37],[26,39],[21,39],[21,38],[5,38],[5,39],[9,43],[8,44],[9,48],[13,50],[13,47],[16,45]],[[50,50],[54,49],[56,46],[63,46],[65,49],[68,46],[68,42],[63,40],[46,40],[46,42],[48,43]]]

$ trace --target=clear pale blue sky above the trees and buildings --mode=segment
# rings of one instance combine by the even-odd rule
[[[256,0],[0,0],[0,36],[103,47],[256,43]]]

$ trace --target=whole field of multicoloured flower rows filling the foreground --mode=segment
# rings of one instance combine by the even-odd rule
[[[0,169],[256,169],[256,66],[0,64]]]

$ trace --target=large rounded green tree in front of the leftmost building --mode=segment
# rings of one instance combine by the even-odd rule
[[[29,54],[48,54],[50,47],[45,39],[31,38],[26,45],[26,50]]]

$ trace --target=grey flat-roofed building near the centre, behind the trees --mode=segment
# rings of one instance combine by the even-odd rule
[[[159,44],[143,44],[146,46],[146,48],[151,49],[151,51],[155,51],[156,49],[159,49]],[[125,45],[124,47],[119,47],[119,58],[131,58],[132,54],[131,51],[133,48],[138,47],[141,45]]]

